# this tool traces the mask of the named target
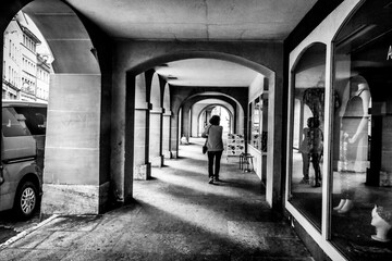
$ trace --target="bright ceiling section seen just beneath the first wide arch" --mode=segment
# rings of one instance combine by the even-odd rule
[[[157,73],[176,86],[248,87],[258,74],[243,65],[215,59],[186,59],[166,65],[156,67]]]

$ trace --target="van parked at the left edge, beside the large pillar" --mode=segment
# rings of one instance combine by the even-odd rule
[[[0,211],[30,217],[42,194],[47,104],[2,101]]]

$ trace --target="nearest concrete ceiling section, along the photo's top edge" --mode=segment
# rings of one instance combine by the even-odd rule
[[[317,0],[65,0],[117,38],[283,40]]]

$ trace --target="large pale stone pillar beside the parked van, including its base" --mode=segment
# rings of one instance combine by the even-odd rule
[[[42,214],[98,214],[108,200],[100,181],[101,76],[51,76]]]

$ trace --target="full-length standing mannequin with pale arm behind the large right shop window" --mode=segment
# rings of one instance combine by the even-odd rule
[[[370,103],[370,89],[362,76],[351,78],[351,98],[347,100],[342,115],[342,145],[341,169],[342,199],[333,208],[338,213],[345,214],[354,208],[354,192],[350,181],[350,173],[355,172],[353,166],[363,161],[367,154],[368,108]]]

